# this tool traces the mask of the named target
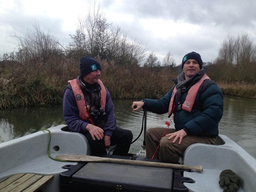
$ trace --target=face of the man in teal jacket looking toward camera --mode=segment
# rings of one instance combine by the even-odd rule
[[[198,73],[199,70],[200,66],[195,59],[188,59],[183,65],[186,80]]]

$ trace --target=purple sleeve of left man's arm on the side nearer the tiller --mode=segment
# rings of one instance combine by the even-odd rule
[[[106,88],[107,91],[107,99],[106,99],[106,119],[105,119],[105,126],[104,131],[105,135],[112,136],[113,131],[116,129],[116,116],[114,114],[114,105],[111,99],[111,96]]]

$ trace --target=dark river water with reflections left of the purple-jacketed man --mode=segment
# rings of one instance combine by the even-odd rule
[[[61,106],[0,111],[0,143],[64,123]]]

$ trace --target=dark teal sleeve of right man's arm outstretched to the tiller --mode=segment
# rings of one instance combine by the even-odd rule
[[[172,87],[169,92],[159,100],[143,99],[143,109],[157,114],[167,113],[169,110],[173,89],[174,87]]]

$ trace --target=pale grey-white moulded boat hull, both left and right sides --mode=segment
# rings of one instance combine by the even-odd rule
[[[90,147],[84,135],[68,132],[67,125],[49,128],[52,133],[50,154],[90,155]],[[184,183],[191,192],[222,192],[218,185],[219,174],[231,169],[241,177],[239,191],[252,192],[256,189],[256,160],[243,148],[224,135],[217,138],[219,145],[194,144],[185,151],[183,164],[203,166],[203,172],[184,172],[184,177],[195,183]],[[39,131],[0,144],[0,180],[18,173],[54,175],[54,179],[41,191],[60,191],[60,173],[67,171],[62,167],[76,165],[75,162],[59,162],[48,157],[49,133]]]

